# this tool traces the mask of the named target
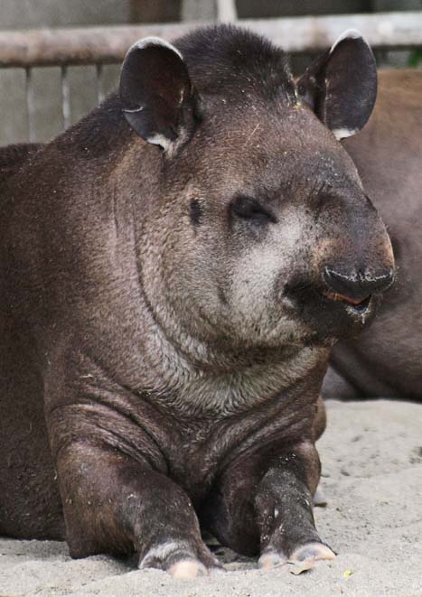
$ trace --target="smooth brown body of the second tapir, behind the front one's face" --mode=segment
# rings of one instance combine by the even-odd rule
[[[398,273],[376,321],[359,339],[336,347],[333,365],[356,396],[420,399],[422,71],[380,71],[379,95],[370,122],[344,145],[389,228]],[[342,393],[342,387],[329,382],[326,389],[329,395]]]

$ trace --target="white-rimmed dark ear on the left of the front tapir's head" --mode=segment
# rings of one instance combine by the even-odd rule
[[[127,51],[120,99],[136,133],[166,151],[192,135],[199,117],[199,98],[182,54],[158,37],[146,37]]]

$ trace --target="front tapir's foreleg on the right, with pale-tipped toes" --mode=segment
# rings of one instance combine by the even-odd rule
[[[314,443],[297,443],[273,458],[267,471],[250,459],[224,472],[202,511],[224,545],[269,568],[287,560],[332,559],[314,526],[312,496],[320,476]]]

